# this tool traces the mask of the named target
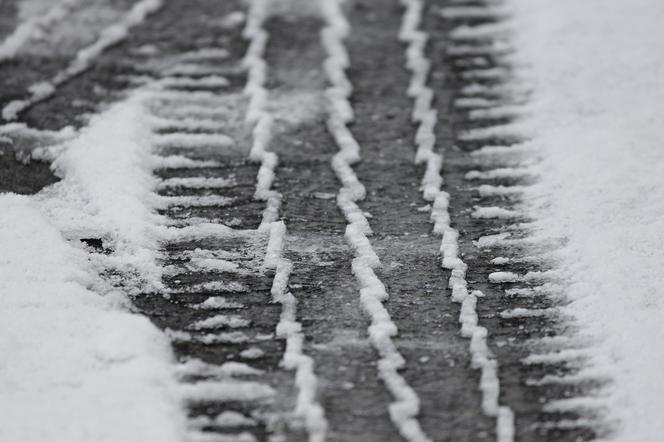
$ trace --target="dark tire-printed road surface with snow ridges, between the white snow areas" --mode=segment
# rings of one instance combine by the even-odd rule
[[[93,8],[69,3],[40,26]],[[132,299],[172,339],[192,441],[600,434],[574,402],[603,381],[574,376],[556,244],[520,201],[537,158],[511,148],[528,91],[499,2],[143,3],[84,66],[98,40],[83,34],[0,64],[7,123],[36,129],[2,148],[146,91],[158,211],[179,233],[162,289]],[[0,166],[3,191],[57,180],[39,161]]]

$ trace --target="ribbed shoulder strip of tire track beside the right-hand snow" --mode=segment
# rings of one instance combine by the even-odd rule
[[[517,439],[594,439],[600,411],[592,395],[604,381],[584,369],[588,343],[557,313],[565,302],[553,266],[557,245],[537,239],[520,205],[538,172],[519,123],[528,90],[512,64],[509,10],[500,1],[430,7],[431,59],[446,78],[433,77],[432,87],[452,120],[452,131],[439,128],[437,136],[458,146],[446,150],[443,168],[450,213],[466,232],[459,252],[467,278],[485,295],[476,308],[501,361],[501,401],[516,414]]]

